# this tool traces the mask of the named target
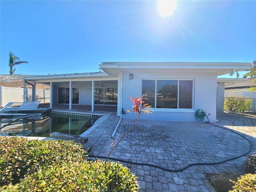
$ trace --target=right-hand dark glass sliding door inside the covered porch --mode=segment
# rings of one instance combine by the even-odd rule
[[[117,88],[94,88],[94,104],[117,105]]]

